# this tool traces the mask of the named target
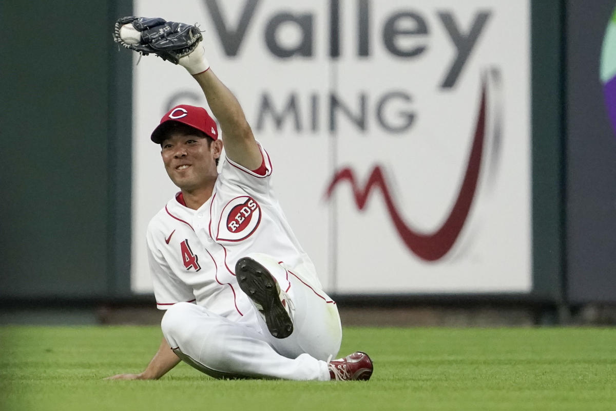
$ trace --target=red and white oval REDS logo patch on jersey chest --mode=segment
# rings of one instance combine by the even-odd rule
[[[253,234],[261,222],[261,207],[249,196],[235,197],[222,209],[216,240],[241,241]]]

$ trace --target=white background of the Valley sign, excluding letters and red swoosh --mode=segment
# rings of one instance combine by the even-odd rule
[[[343,0],[340,55],[335,58],[330,57],[328,1],[259,1],[233,56],[225,54],[211,3],[139,0],[134,7],[136,15],[201,24],[211,67],[236,94],[254,134],[270,153],[280,202],[327,291],[530,291],[529,2]],[[248,2],[216,4],[227,31],[236,30]],[[362,4],[368,4],[368,55],[358,51]],[[312,21],[312,55],[281,58],[270,51],[265,32],[281,13]],[[384,27],[396,13],[416,18],[400,18],[394,30],[416,31],[418,21],[425,23],[425,34],[393,40],[399,50],[424,47],[415,57],[394,55],[386,47]],[[457,55],[443,15],[460,35],[468,36],[480,14],[487,14],[487,20],[460,74],[452,87],[443,87]],[[278,26],[276,39],[279,46],[293,49],[302,33],[287,22]],[[488,70],[498,76],[488,75]],[[144,57],[133,76],[131,278],[133,291],[150,293],[145,230],[178,189],[166,176],[160,147],[149,136],[171,105],[207,104],[184,68],[169,62]],[[407,248],[378,187],[363,210],[348,181],[339,182],[326,197],[336,171],[351,169],[357,187],[365,189],[379,166],[405,225],[425,234],[439,229],[466,171],[482,78],[488,83],[488,132],[479,181],[461,235],[442,258],[426,261]],[[335,127],[331,99],[342,106],[333,110]],[[287,113],[277,124],[264,109],[265,101],[278,115],[294,102],[297,116]],[[495,120],[498,110],[500,122]],[[403,131],[387,129],[404,128],[410,115],[413,121]],[[499,125],[501,134],[495,131]]]

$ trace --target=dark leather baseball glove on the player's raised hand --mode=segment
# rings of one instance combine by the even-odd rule
[[[128,23],[132,23],[141,33],[141,39],[137,44],[128,44],[120,37],[120,28]],[[140,54],[156,54],[174,64],[192,53],[201,39],[203,36],[197,26],[167,22],[160,17],[122,17],[115,23],[113,30],[113,40],[116,43]]]

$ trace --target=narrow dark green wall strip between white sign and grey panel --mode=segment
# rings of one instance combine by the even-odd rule
[[[564,303],[562,1],[531,3],[533,293]]]

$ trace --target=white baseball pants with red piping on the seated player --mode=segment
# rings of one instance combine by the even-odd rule
[[[342,340],[336,304],[269,256],[249,257],[265,266],[283,290],[290,284],[286,293],[295,307],[293,333],[283,339],[270,335],[256,309],[242,322],[232,322],[205,307],[177,303],[161,322],[169,346],[182,360],[216,378],[330,380],[326,360],[338,354]]]

